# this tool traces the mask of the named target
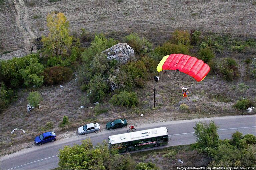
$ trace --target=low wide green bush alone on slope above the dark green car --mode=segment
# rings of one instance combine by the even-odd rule
[[[126,91],[113,95],[112,98],[109,100],[109,103],[113,105],[126,106],[131,108],[134,108],[138,104],[138,102],[139,101],[136,93],[129,93]]]

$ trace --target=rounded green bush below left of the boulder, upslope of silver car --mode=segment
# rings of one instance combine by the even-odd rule
[[[88,99],[91,102],[101,102],[109,90],[101,74],[95,74],[88,84]]]

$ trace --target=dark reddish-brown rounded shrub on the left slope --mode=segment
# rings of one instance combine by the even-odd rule
[[[72,77],[72,70],[61,66],[48,67],[44,69],[43,75],[47,84],[58,84],[69,80]]]

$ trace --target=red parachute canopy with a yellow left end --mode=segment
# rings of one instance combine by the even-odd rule
[[[197,82],[202,81],[210,71],[208,64],[196,57],[184,54],[170,54],[163,57],[157,66],[157,71],[177,70],[191,77]]]

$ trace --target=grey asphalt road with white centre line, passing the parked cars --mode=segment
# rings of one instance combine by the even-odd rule
[[[195,123],[199,120],[209,123],[210,119],[214,120],[215,124],[219,126],[218,134],[220,139],[230,139],[232,133],[234,133],[235,130],[242,132],[243,135],[248,133],[255,135],[255,115],[161,122],[136,126],[135,128],[138,131],[165,126],[168,128],[168,135],[171,138],[171,141],[168,145],[161,147],[185,145],[195,143],[196,141],[196,137],[193,133],[193,127],[195,126]],[[81,140],[85,138],[90,138],[93,142],[93,145],[96,145],[98,142],[107,140],[108,136],[125,133],[126,130],[127,128],[120,128],[112,131],[101,130],[97,133],[91,133],[84,136],[79,135],[75,138],[57,140],[54,143],[49,142],[41,146],[24,149],[16,153],[1,157],[0,169],[53,169],[58,167],[59,149],[62,149],[65,145],[72,146],[74,143],[81,144]]]

